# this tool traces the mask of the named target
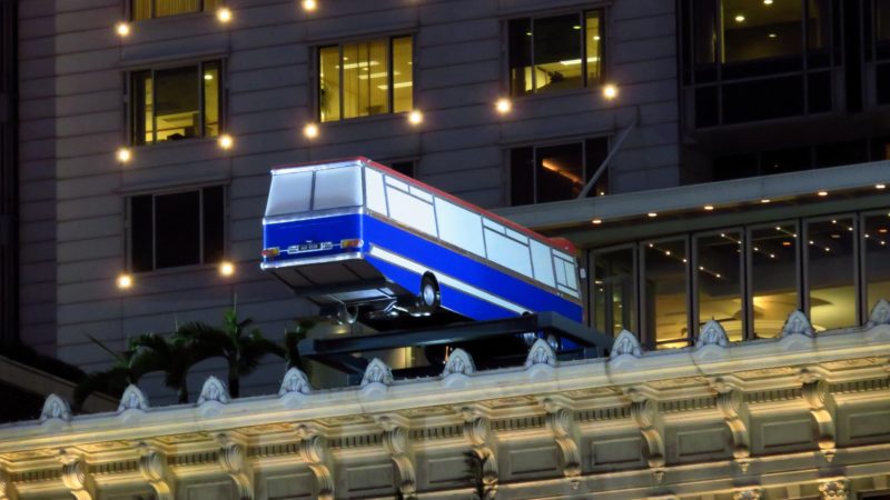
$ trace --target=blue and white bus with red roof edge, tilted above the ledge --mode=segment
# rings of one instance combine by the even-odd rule
[[[343,321],[582,321],[571,243],[366,158],[274,169],[263,226],[261,268]]]

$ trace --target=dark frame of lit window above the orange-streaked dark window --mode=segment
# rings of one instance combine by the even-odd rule
[[[595,11],[600,12],[600,40],[599,41],[600,41],[600,47],[601,47],[601,52],[602,53],[600,54],[600,79],[599,79],[597,82],[591,83],[589,81],[590,71],[587,69],[589,68],[587,67],[587,42],[586,42],[586,37],[585,37],[585,33],[586,33],[585,27],[586,27],[586,20],[587,20],[586,16],[587,16],[587,13],[589,12],[595,12]],[[578,30],[580,31],[578,37],[581,38],[581,79],[582,79],[581,87],[577,88],[577,89],[566,89],[566,90],[558,91],[558,92],[538,92],[537,89],[536,89],[536,84],[535,84],[536,83],[535,73],[533,71],[532,72],[532,89],[533,90],[531,92],[525,92],[525,93],[522,93],[522,94],[514,93],[513,92],[513,81],[512,81],[512,77],[511,77],[511,67],[510,67],[510,56],[511,56],[511,43],[510,43],[510,41],[511,41],[510,40],[510,31],[511,30],[510,30],[510,23],[513,22],[513,21],[527,19],[528,22],[531,23],[532,33],[534,33],[535,19],[556,18],[556,17],[567,16],[567,14],[576,14],[578,17],[580,26],[582,27],[581,30]],[[565,94],[571,94],[571,93],[576,93],[576,92],[586,92],[591,88],[604,84],[606,81],[609,81],[607,76],[610,73],[607,63],[609,63],[609,61],[611,59],[609,57],[609,47],[610,47],[609,33],[611,31],[610,24],[609,24],[609,20],[612,17],[611,17],[611,12],[610,12],[609,6],[595,6],[595,7],[590,7],[590,8],[582,8],[580,10],[577,8],[575,8],[575,9],[560,9],[560,10],[553,10],[553,11],[535,12],[533,14],[530,13],[530,14],[526,14],[526,16],[515,16],[515,17],[505,18],[501,23],[501,31],[502,31],[502,38],[501,39],[503,41],[503,47],[504,47],[503,53],[502,53],[502,59],[503,59],[504,62],[503,62],[502,67],[504,68],[504,74],[506,76],[506,78],[504,79],[505,81],[503,83],[505,86],[505,88],[506,88],[506,92],[504,92],[504,93],[506,96],[510,96],[511,99],[533,99],[533,98],[536,98],[536,97],[540,98],[540,97],[547,97],[547,96],[565,96]],[[531,53],[532,66],[533,67],[534,67],[534,49],[535,49],[534,39],[535,39],[535,37],[532,36],[531,52],[530,53]]]

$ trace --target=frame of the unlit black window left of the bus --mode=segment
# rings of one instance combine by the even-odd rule
[[[199,184],[199,186],[188,186],[188,187],[180,187],[176,189],[166,189],[160,191],[147,191],[147,192],[131,192],[127,193],[123,199],[123,263],[125,269],[127,272],[134,274],[148,274],[148,273],[165,273],[165,272],[177,272],[177,271],[188,271],[195,269],[205,269],[211,266],[215,266],[214,262],[205,261],[205,211],[204,211],[204,197],[205,190],[211,188],[220,188],[222,190],[222,260],[226,260],[229,256],[229,237],[230,237],[230,212],[229,212],[229,184],[220,184],[220,183],[210,183],[210,184]],[[170,196],[170,194],[181,194],[181,193],[189,193],[189,192],[198,192],[198,222],[199,222],[199,231],[198,231],[198,254],[200,256],[200,262],[192,263],[192,264],[184,264],[184,266],[171,266],[165,268],[157,267],[157,202],[156,199],[158,197]],[[132,221],[132,199],[139,197],[151,197],[151,269],[136,271],[134,270],[134,242],[132,242],[132,234],[134,234],[134,221]]]

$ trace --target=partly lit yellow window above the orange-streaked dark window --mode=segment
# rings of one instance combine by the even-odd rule
[[[580,89],[603,77],[603,11],[510,21],[514,96]]]

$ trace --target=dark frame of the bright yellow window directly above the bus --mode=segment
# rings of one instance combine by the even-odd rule
[[[412,97],[411,97],[411,100],[412,100],[412,109],[408,110],[408,111],[398,111],[398,112],[396,112],[396,111],[394,111],[395,110],[395,87],[393,86],[393,80],[394,80],[393,79],[393,66],[394,66],[393,41],[396,40],[396,39],[399,39],[399,38],[408,38],[408,37],[411,37],[411,58],[412,58],[411,59],[412,60],[412,64],[411,64],[411,81],[412,81],[412,87],[411,87]],[[388,73],[387,77],[386,77],[386,82],[387,82],[387,86],[388,86],[388,89],[387,89],[387,92],[386,92],[386,102],[387,102],[387,107],[388,107],[389,111],[385,112],[385,113],[368,114],[368,116],[365,116],[365,117],[344,118],[345,113],[344,113],[344,106],[343,106],[343,103],[344,103],[344,99],[343,99],[343,81],[344,81],[343,80],[343,70],[344,70],[344,68],[343,68],[343,66],[344,66],[343,64],[343,46],[348,44],[348,43],[373,42],[373,41],[379,41],[379,40],[384,40],[384,39],[387,42],[386,57],[387,57],[388,66],[389,66],[387,68],[387,70],[386,70],[387,73]],[[339,68],[339,92],[337,93],[337,99],[339,100],[339,114],[340,114],[340,117],[338,119],[336,119],[336,120],[322,121],[322,77],[319,74],[320,71],[322,71],[322,50],[323,49],[329,49],[332,47],[336,47],[337,48],[337,58],[338,58],[338,62],[339,62],[339,67],[340,67]],[[377,34],[377,36],[372,36],[372,37],[349,38],[349,39],[345,39],[345,40],[330,41],[329,43],[317,43],[317,44],[312,46],[309,48],[309,53],[312,56],[310,57],[310,61],[312,61],[312,64],[310,64],[310,71],[312,71],[312,73],[310,73],[312,74],[310,82],[313,83],[313,93],[314,93],[314,99],[313,99],[314,112],[313,112],[313,117],[314,117],[314,120],[317,123],[324,123],[325,126],[328,126],[328,124],[332,124],[332,123],[355,122],[356,120],[375,120],[375,119],[380,119],[382,117],[404,116],[404,114],[409,113],[412,110],[417,109],[417,106],[416,106],[416,103],[417,103],[417,63],[416,63],[416,61],[417,61],[417,32],[416,31],[400,32],[398,34],[387,33],[387,34]]]

